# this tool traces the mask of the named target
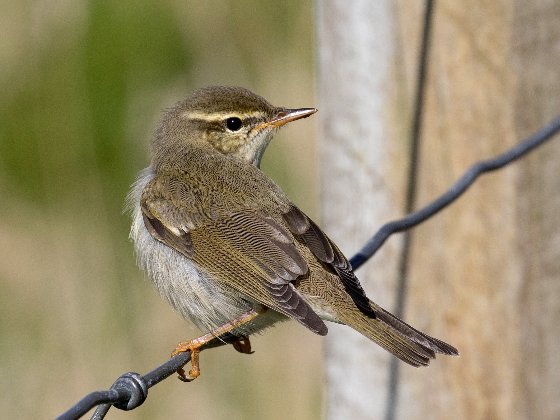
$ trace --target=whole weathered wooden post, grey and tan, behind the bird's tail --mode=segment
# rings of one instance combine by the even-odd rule
[[[370,12],[352,20],[337,2],[319,3],[323,220],[351,254],[402,212],[422,3],[370,5],[381,27]],[[473,162],[560,113],[559,21],[554,1],[436,2],[417,208]],[[354,57],[373,51],[366,43],[373,36],[383,40],[374,53],[379,62]],[[334,60],[343,46],[360,53]],[[372,96],[379,102],[368,108]],[[390,310],[400,244],[393,239],[386,247],[360,278]],[[461,357],[438,357],[429,369],[403,365],[398,418],[560,418],[560,139],[484,175],[414,230],[408,271],[404,319],[453,344]],[[328,337],[328,417],[384,418],[386,359],[352,338],[358,348],[344,361],[341,343],[353,334],[331,328]]]

